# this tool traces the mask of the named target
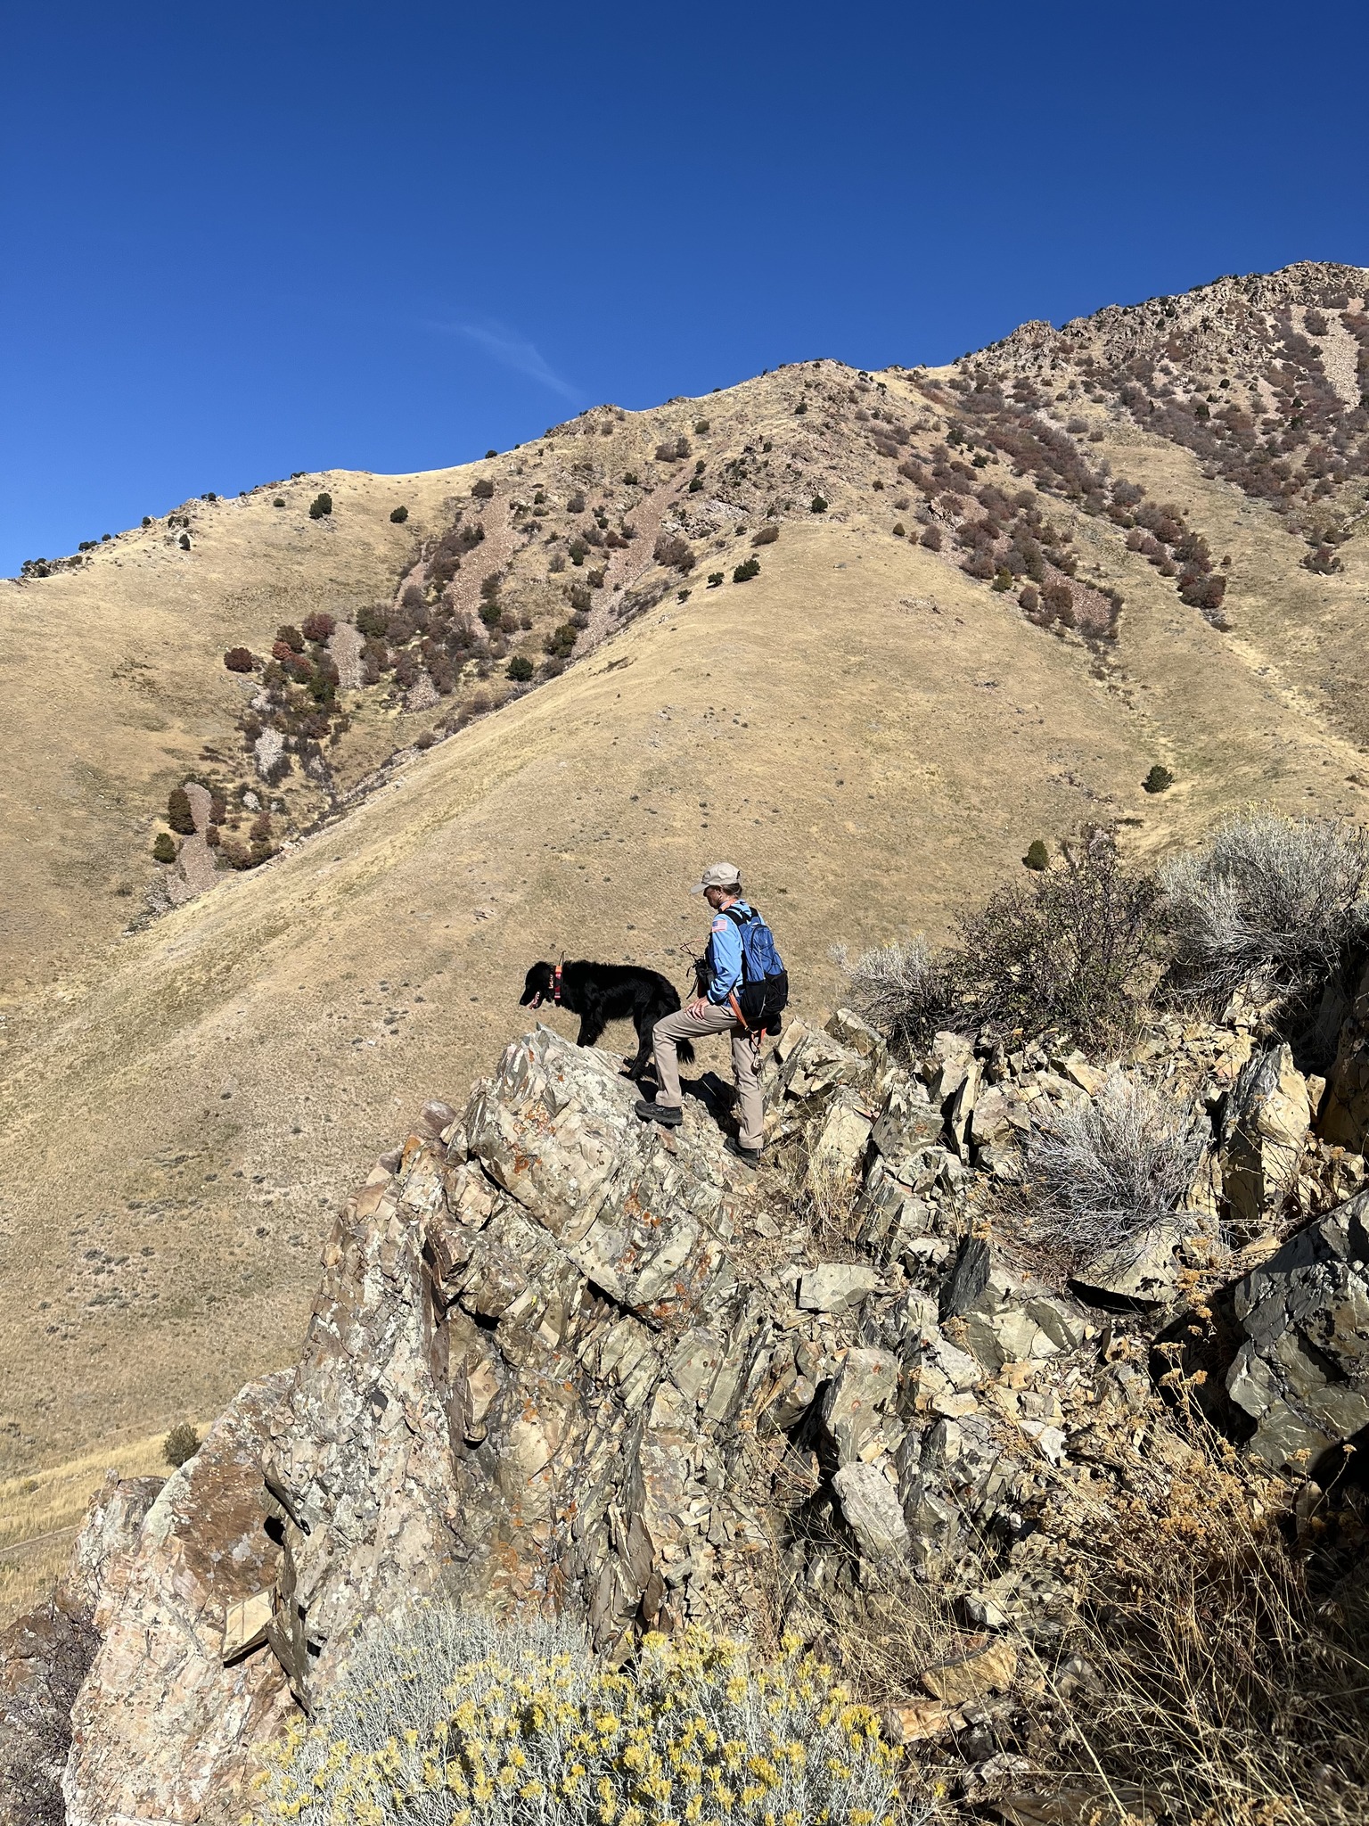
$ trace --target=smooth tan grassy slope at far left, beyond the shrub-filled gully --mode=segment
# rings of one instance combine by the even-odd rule
[[[336,511],[310,520],[325,488]],[[234,734],[243,685],[225,672],[225,648],[265,624],[389,593],[451,493],[444,469],[299,477],[186,502],[75,570],[0,581],[9,995],[78,977],[141,911],[155,814],[206,767],[204,747]],[[411,519],[396,526],[402,502]]]

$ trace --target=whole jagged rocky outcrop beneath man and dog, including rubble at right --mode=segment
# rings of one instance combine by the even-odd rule
[[[360,1636],[425,1600],[568,1616],[613,1665],[686,1623],[845,1627],[925,1793],[1197,1817],[1117,1762],[1050,1771],[1103,1678],[1077,1653],[1101,1567],[1163,1583],[1137,1552],[1197,1552],[1243,1505],[1364,1607],[1367,1006],[1369,973],[1325,1081],[1239,1002],[1157,1017],[1126,1065],[1201,1112],[1192,1191],[1075,1264],[1015,1202],[1042,1125],[1110,1094],[1073,1046],[946,1032],[900,1061],[849,1010],[796,1021],[752,1178],[716,1081],[663,1132],[617,1059],[538,1026],[349,1200],[296,1368],[161,1490],[111,1483],[57,1601],[0,1640],[0,1760],[47,1746],[47,1799],[11,1775],[0,1819],[241,1817]],[[1349,1819],[1360,1753],[1298,1755]]]

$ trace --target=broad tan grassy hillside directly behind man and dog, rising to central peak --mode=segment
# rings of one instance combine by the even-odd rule
[[[396,1116],[464,1090],[520,1028],[540,955],[637,959],[683,986],[701,937],[686,887],[716,855],[741,864],[798,1006],[816,1013],[836,992],[834,944],[944,931],[1037,836],[1117,820],[1155,853],[1256,798],[1365,816],[1365,738],[1347,699],[1320,688],[1364,646],[1364,533],[1338,540],[1340,570],[1309,572],[1285,515],[1205,477],[1199,453],[1139,427],[1106,389],[1070,431],[1035,383],[1020,405],[986,402],[988,387],[975,400],[977,387],[966,363],[882,376],[805,363],[655,413],[601,407],[464,473],[332,478],[340,504],[349,488],[374,497],[380,537],[307,601],[345,614],[413,586],[427,617],[403,639],[391,637],[403,626],[369,637],[374,681],[340,694],[341,752],[371,730],[367,754],[389,743],[402,760],[314,834],[117,944],[80,913],[84,878],[44,862],[46,904],[77,937],[60,1008],[16,997],[5,1026],[0,1370],[15,1468],[212,1411],[285,1360],[327,1212]],[[1028,442],[1013,413],[1033,422]],[[1345,498],[1356,473],[1336,484]],[[413,546],[414,528],[381,511],[391,498],[427,502]],[[1154,535],[1134,509],[1150,502],[1181,509],[1155,522],[1170,535],[1159,562],[1139,548]],[[256,513],[223,504],[221,520],[245,528],[243,573],[257,566],[252,588],[268,592],[285,559],[257,550]],[[334,519],[321,537],[343,537],[349,515]],[[602,535],[601,519],[635,537],[595,546],[582,535]],[[476,520],[480,550],[434,577],[440,539]],[[774,540],[756,546],[767,528]],[[1194,535],[1210,570],[1185,582]],[[172,734],[133,719],[128,738],[102,736],[100,765],[146,787],[130,845],[146,847],[192,741],[215,749],[230,805],[252,783],[243,685],[221,652],[268,654],[274,624],[299,612],[318,566],[303,542],[288,550],[288,601],[214,597],[204,668],[186,659],[175,716],[157,710]],[[730,581],[752,555],[759,575]],[[99,601],[77,593],[93,572],[11,590],[26,610],[73,592],[82,614],[104,614],[113,652],[139,590],[152,601],[152,559],[122,564],[119,593],[111,579]],[[1186,601],[1212,573],[1227,579],[1219,603]],[[179,590],[204,575],[173,573]],[[177,588],[155,615],[184,643]],[[590,606],[560,670],[546,639],[568,588]],[[434,628],[445,643],[491,597],[513,626],[482,621],[451,696],[407,710],[420,674],[444,665]],[[518,652],[537,688],[473,719]],[[296,716],[288,676],[250,688],[261,716]],[[84,765],[47,752],[26,714],[38,811],[9,814],[20,838],[24,818],[55,829]],[[418,752],[414,727],[449,734]],[[1152,763],[1176,776],[1163,796],[1141,789]],[[89,891],[108,895],[104,882]]]

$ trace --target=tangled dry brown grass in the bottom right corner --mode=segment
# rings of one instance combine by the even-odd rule
[[[1051,1738],[1081,1775],[1203,1826],[1364,1817],[1369,1665],[1309,1589],[1285,1497],[1208,1435],[1163,1499],[1081,1508],[1068,1695],[1059,1662],[1042,1667]]]

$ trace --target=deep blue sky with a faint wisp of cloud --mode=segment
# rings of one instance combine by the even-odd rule
[[[0,16],[0,573],[292,469],[1369,261],[1342,0]]]

